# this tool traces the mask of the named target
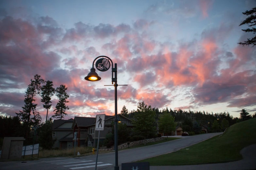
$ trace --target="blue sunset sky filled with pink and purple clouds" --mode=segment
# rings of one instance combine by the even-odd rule
[[[94,59],[117,64],[117,98],[136,110],[139,102],[163,109],[256,111],[256,47],[241,46],[254,35],[239,26],[254,0],[1,0],[0,114],[24,106],[30,79],[38,74],[65,85],[74,116],[114,114],[111,70],[86,81]],[[37,111],[46,109],[36,96]],[[52,108],[58,102],[52,98]]]

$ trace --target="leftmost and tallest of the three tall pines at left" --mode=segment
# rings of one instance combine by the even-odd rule
[[[31,83],[27,87],[26,95],[25,95],[25,105],[22,107],[22,111],[20,113],[16,113],[17,116],[21,118],[23,125],[26,127],[26,138],[30,131],[31,126],[37,126],[41,122],[41,116],[39,112],[36,111],[37,104],[33,103],[36,101],[35,96],[40,94],[41,83],[44,83],[43,79],[40,79],[41,76],[35,75],[34,80],[31,79]],[[31,111],[33,113],[33,117],[31,118]]]

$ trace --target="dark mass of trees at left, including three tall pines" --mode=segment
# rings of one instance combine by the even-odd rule
[[[66,106],[66,103],[69,101],[67,100],[69,95],[67,94],[66,90],[67,87],[65,85],[60,85],[56,89],[53,87],[52,81],[45,81],[41,78],[40,75],[35,75],[34,79],[30,80],[31,83],[28,85],[26,89],[25,99],[24,99],[24,106],[19,113],[16,113],[16,116],[7,117],[1,116],[0,117],[0,124],[2,125],[0,130],[0,144],[3,137],[10,137],[10,136],[17,136],[17,137],[25,137],[26,141],[25,144],[31,144],[31,137],[30,132],[32,127],[40,127],[42,131],[47,131],[52,124],[52,119],[49,118],[48,112],[49,109],[52,107],[52,97],[55,94],[59,99],[55,109],[53,118],[63,119],[64,116],[67,115],[66,110],[69,109]],[[37,111],[36,107],[38,104],[35,103],[37,100],[37,96],[41,96],[41,102],[43,103],[43,108],[46,111],[46,120],[45,122],[41,123],[42,117],[40,113]],[[46,128],[47,127],[47,128]],[[44,129],[46,128],[46,129]],[[38,129],[38,131],[40,131]],[[51,132],[49,132],[51,134]],[[51,135],[48,135],[51,136]],[[48,138],[48,136],[44,136]],[[29,139],[30,138],[30,139]],[[43,137],[42,137],[43,141]]]

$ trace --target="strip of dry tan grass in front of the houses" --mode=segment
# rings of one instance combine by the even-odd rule
[[[76,155],[92,152],[92,147],[76,147]],[[74,156],[74,148],[62,150],[39,150],[39,158]]]

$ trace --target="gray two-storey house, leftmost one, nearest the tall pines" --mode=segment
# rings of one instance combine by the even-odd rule
[[[74,119],[53,120],[52,138],[56,139],[53,148],[72,148],[73,130],[71,129]]]

